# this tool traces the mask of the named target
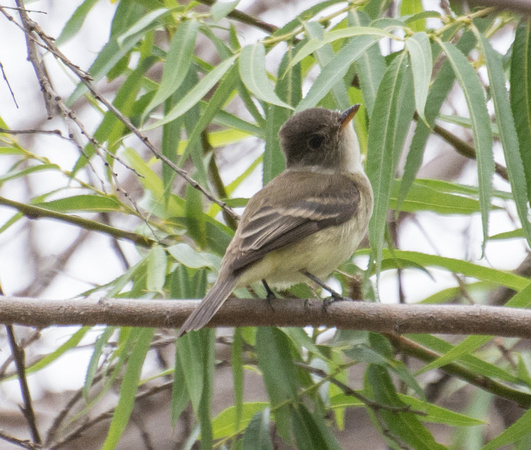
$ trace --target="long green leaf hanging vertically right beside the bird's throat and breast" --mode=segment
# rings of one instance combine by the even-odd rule
[[[377,271],[396,166],[415,108],[411,79],[406,76],[407,59],[407,54],[403,52],[385,72],[369,127],[366,171],[374,191],[369,239]]]

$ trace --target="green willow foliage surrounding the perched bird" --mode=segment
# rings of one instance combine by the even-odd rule
[[[237,14],[237,1],[216,2],[208,8],[198,2],[121,1],[108,43],[88,72],[94,83],[120,80],[113,105],[137,130],[160,132],[162,157],[186,167],[193,180],[231,206],[245,204],[233,193],[254,176],[258,165],[263,167],[264,183],[283,170],[276,136],[294,111],[318,105],[345,109],[362,103],[354,126],[366,155],[375,208],[370,249],[360,249],[356,259],[341,267],[338,280],[343,290],[348,292],[352,279],[363,274],[367,299],[377,300],[371,286],[382,271],[412,267],[428,272],[437,267],[454,274],[459,286],[441,289],[426,302],[450,303],[456,297],[481,302],[495,287],[503,286],[520,291],[508,306],[526,307],[529,283],[524,277],[497,267],[395,248],[388,210],[397,215],[479,214],[483,246],[490,239],[531,243],[531,19],[488,8],[467,13],[458,3],[452,3],[453,10],[443,14],[425,10],[420,0],[395,2],[398,6],[391,8],[391,17],[389,3],[330,0],[276,28]],[[81,4],[58,44],[75,36],[95,4],[91,0]],[[248,43],[245,32],[236,29],[241,21],[261,28],[264,34],[257,42]],[[512,45],[505,54],[493,46],[500,31],[512,33]],[[208,59],[199,43],[209,48]],[[151,72],[160,67],[160,80],[154,80]],[[456,89],[466,102],[469,117],[442,114]],[[307,92],[303,95],[303,91]],[[158,170],[156,155],[146,156],[140,141],[131,144],[132,127],[112,111],[100,109],[100,99],[80,82],[67,105],[73,108],[71,105],[82,99],[99,114],[99,123],[93,139],[80,148],[71,170],[24,148],[15,136],[0,134],[0,154],[16,160],[0,177],[0,185],[40,171],[61,174],[63,188],[42,193],[27,204],[53,211],[51,217],[56,219],[138,244],[135,265],[111,283],[81,295],[202,297],[211,281],[209,274],[215,273],[233,233],[230,211],[190,184],[183,186],[167,164]],[[477,186],[417,177],[428,139],[442,135],[438,119],[459,127],[456,134],[444,136],[457,151],[468,152],[467,156],[475,159]],[[7,128],[5,123],[1,125]],[[410,130],[412,138],[408,140]],[[473,146],[464,142],[466,137],[457,136],[469,131]],[[232,183],[224,184],[217,150],[256,138],[266,142],[263,155],[248,161]],[[495,164],[494,142],[503,151],[505,172]],[[405,164],[397,177],[403,157]],[[133,200],[121,187],[115,172],[124,167],[141,184],[141,200]],[[96,176],[87,177],[87,172]],[[509,182],[507,192],[493,185],[493,178],[504,174]],[[91,178],[98,181],[87,181]],[[174,185],[178,189],[173,189]],[[8,204],[6,201],[0,199],[0,203]],[[489,217],[493,209],[501,207],[514,210],[519,225],[491,236]],[[22,220],[22,213],[39,212],[26,213],[21,208],[0,232]],[[76,222],[74,214],[81,212],[105,214],[120,225],[111,233],[97,219]],[[123,224],[131,222],[124,217],[134,218],[136,229],[125,229]],[[365,261],[364,255],[369,257],[368,267],[355,265]],[[261,292],[260,287],[256,291]],[[301,286],[292,290],[293,295],[301,292],[305,296],[308,291]],[[237,294],[249,296],[246,290]],[[87,331],[78,331],[28,371],[68,357]],[[466,384],[473,387],[471,398],[483,389],[489,402],[506,397],[526,408],[531,406],[529,359],[512,348],[515,342],[505,344],[508,353],[514,352],[505,358],[485,346],[490,337],[469,337],[453,345],[434,336],[397,340],[362,331],[335,331],[332,338],[325,339],[328,336],[331,334],[325,329],[309,334],[294,328],[237,329],[233,338],[223,341],[232,348],[234,405],[212,417],[216,378],[212,330],[181,338],[174,364],[150,380],[142,378],[141,369],[146,355],[154,351],[150,350],[153,330],[99,330],[83,389],[83,412],[58,424],[54,438],[69,435],[79,417],[88,414],[118,381],[120,398],[104,445],[114,448],[129,421],[139,385],[163,376],[173,377],[168,421],[177,423],[191,403],[197,428],[189,438],[190,442],[199,439],[202,448],[273,448],[275,439],[305,449],[339,448],[334,430],[350,426],[347,413],[351,408],[365,408],[392,448],[443,448],[432,435],[430,423],[449,427],[446,444],[473,448],[467,442],[473,442],[486,426],[484,411],[472,406],[452,411],[426,394],[428,382],[422,373],[441,366],[452,376],[448,392],[464,389]],[[403,354],[414,355],[424,368],[415,373]],[[362,387],[357,390],[350,387],[348,378],[353,366],[365,368]],[[247,371],[262,377],[266,401],[244,401]],[[100,383],[97,394],[91,389],[96,382]],[[513,442],[524,448],[531,435],[528,414],[486,448]]]

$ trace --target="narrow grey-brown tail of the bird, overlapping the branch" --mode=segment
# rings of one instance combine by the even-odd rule
[[[236,287],[236,282],[238,277],[229,276],[218,278],[218,281],[212,286],[212,289],[208,291],[208,294],[205,296],[203,301],[195,309],[195,311],[190,314],[188,319],[184,322],[183,326],[179,330],[177,337],[181,337],[183,334],[188,333],[189,331],[199,330],[203,328],[210,319],[214,317],[214,314],[221,308],[221,305],[225,303],[230,293]]]

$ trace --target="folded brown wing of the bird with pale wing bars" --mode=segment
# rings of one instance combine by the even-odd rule
[[[287,178],[297,188],[285,189]],[[323,228],[347,222],[358,211],[359,203],[358,186],[348,175],[284,172],[247,205],[227,250],[233,256],[231,271],[239,271]]]

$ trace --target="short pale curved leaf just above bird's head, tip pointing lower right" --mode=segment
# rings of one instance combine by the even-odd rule
[[[249,91],[260,100],[293,109],[273,90],[265,67],[265,47],[262,43],[246,45],[240,54],[240,76]]]

